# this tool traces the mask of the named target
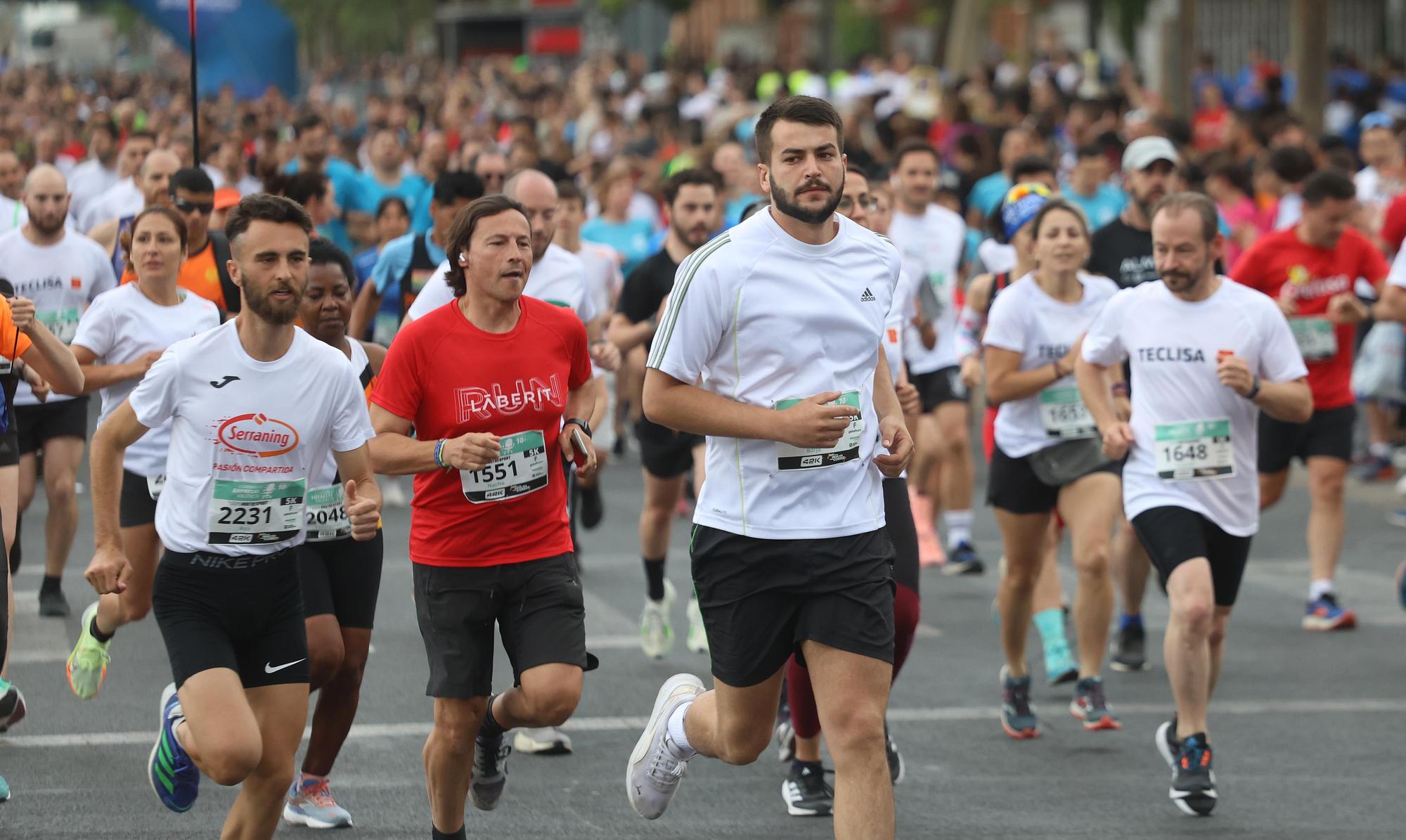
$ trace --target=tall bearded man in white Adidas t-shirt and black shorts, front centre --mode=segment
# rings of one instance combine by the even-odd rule
[[[707,435],[692,555],[716,688],[693,674],[659,688],[626,770],[647,819],[664,815],[695,756],[756,760],[799,650],[831,733],[837,833],[893,836],[882,478],[901,475],[912,442],[880,343],[900,256],[835,215],[842,138],[821,100],[762,112],[772,209],[685,260],[652,344],[645,414]]]

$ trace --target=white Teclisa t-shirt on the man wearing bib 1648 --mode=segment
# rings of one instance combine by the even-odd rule
[[[1161,281],[1123,289],[1084,337],[1085,361],[1107,367],[1126,358],[1132,367],[1133,445],[1123,468],[1128,518],[1170,506],[1199,513],[1234,537],[1260,528],[1260,409],[1216,378],[1222,350],[1244,358],[1265,382],[1308,376],[1278,305],[1229,278],[1194,303],[1174,296]],[[1211,440],[1226,431],[1229,451]],[[1199,480],[1159,475],[1188,464],[1191,449],[1202,445],[1212,457],[1219,451],[1220,464],[1229,461],[1233,473]]]

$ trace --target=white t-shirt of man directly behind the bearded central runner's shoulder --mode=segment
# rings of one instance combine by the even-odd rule
[[[904,257],[904,268],[917,280],[927,280],[942,303],[942,316],[932,324],[938,343],[932,350],[922,346],[922,336],[914,326],[904,329],[904,358],[908,371],[931,374],[959,364],[956,348],[957,315],[962,309],[962,243],[966,223],[945,206],[928,205],[922,216],[894,211],[889,237]]]

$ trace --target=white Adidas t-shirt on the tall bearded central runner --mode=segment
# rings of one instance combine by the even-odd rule
[[[811,246],[761,212],[679,265],[651,368],[765,409],[838,391],[860,412],[834,449],[709,437],[700,525],[813,539],[884,524],[873,379],[901,258],[887,239],[835,219],[835,237]]]

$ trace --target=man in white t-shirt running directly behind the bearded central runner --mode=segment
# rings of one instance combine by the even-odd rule
[[[950,552],[942,572],[980,575],[981,558],[972,545],[972,487],[976,480],[967,433],[972,406],[962,382],[962,360],[956,347],[966,225],[959,215],[932,202],[939,163],[936,149],[922,140],[911,140],[894,152],[897,206],[889,236],[903,251],[905,268],[920,278],[920,284],[927,281],[927,288],[921,289],[924,299],[939,309],[932,315],[938,333],[935,346],[925,344],[917,327],[904,330],[908,379],[922,395],[918,455],[908,496],[918,527],[922,565],[942,562],[942,546],[934,532],[934,517],[941,507]]]

